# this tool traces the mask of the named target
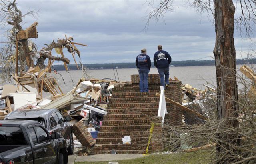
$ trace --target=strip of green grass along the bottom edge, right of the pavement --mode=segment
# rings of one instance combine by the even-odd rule
[[[207,150],[189,153],[153,154],[132,160],[119,160],[119,164],[207,164],[210,162]],[[112,160],[116,161],[116,160]],[[107,164],[104,162],[75,162],[75,164]]]

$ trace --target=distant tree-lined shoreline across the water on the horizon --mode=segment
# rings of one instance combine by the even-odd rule
[[[237,59],[236,64],[256,64],[256,59]],[[172,61],[170,66],[184,67],[184,66],[214,66],[215,60],[186,60],[186,61]],[[81,65],[78,64],[80,70]],[[102,63],[102,64],[83,64],[89,70],[106,70],[106,69],[125,69],[125,68],[136,68],[135,63]],[[152,63],[154,68],[154,63]],[[53,65],[53,68],[57,71],[65,70],[64,65]],[[75,64],[68,64],[69,70],[78,70]]]

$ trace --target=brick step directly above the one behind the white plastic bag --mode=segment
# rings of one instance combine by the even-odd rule
[[[112,138],[115,136],[116,138],[123,138],[124,136],[133,137],[148,137],[149,131],[131,131],[131,132],[98,132],[98,138]]]

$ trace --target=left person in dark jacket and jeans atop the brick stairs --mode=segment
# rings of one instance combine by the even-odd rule
[[[151,68],[151,60],[145,48],[136,57],[136,66],[140,75],[140,92],[148,92],[148,73]]]

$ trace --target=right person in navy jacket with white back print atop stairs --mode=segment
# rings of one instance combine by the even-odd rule
[[[168,52],[163,51],[162,45],[157,46],[158,51],[154,54],[154,65],[160,76],[161,86],[169,86],[169,64],[172,58]]]

